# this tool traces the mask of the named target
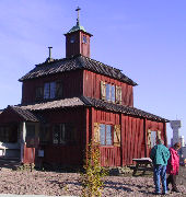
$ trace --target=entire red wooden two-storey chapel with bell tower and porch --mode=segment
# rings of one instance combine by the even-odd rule
[[[80,25],[79,15],[65,36],[66,58],[53,59],[49,53],[19,80],[21,104],[0,113],[0,157],[82,165],[83,151],[94,139],[103,166],[123,166],[149,157],[158,138],[166,144],[168,120],[136,108],[137,83],[90,58],[92,35]]]

